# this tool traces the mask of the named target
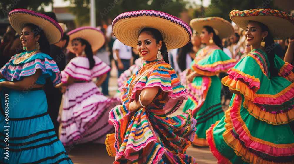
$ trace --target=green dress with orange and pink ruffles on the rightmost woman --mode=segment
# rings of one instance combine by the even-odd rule
[[[253,49],[222,79],[240,94],[206,131],[218,163],[294,163],[293,66],[275,56],[278,77],[269,67],[267,55]]]

